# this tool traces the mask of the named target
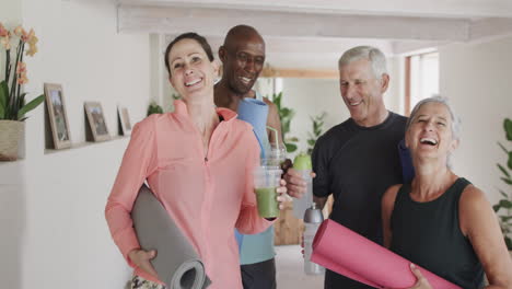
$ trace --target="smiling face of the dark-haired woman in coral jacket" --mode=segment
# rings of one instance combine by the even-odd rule
[[[189,38],[177,42],[168,54],[170,81],[187,103],[211,97],[218,66],[210,61],[201,45]]]

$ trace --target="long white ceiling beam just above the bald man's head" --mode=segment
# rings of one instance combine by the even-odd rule
[[[234,25],[255,26],[265,36],[315,38],[386,38],[465,42],[467,20],[406,16],[329,15],[268,11],[119,5],[119,32],[177,34],[198,31],[225,35]]]

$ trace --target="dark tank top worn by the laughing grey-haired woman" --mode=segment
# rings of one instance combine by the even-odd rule
[[[458,224],[458,200],[469,184],[459,177],[427,203],[412,200],[410,184],[404,184],[391,219],[393,252],[465,289],[484,281],[481,263]]]

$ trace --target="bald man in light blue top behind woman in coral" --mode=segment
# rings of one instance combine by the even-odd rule
[[[264,101],[268,105],[267,126],[276,128],[279,142],[282,142],[281,120],[276,104],[253,90],[265,63],[265,42],[251,26],[237,25],[225,36],[219,48],[222,61],[222,80],[216,84],[214,102],[219,107],[237,112],[238,103],[244,97]],[[268,135],[270,142],[276,142],[274,134]],[[291,196],[302,197],[306,184],[293,170],[287,173]],[[244,289],[276,288],[276,253],[274,251],[274,227],[256,235],[244,235],[240,257]]]

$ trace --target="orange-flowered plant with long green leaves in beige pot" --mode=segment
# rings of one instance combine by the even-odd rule
[[[15,59],[11,61],[11,37],[19,37]],[[13,161],[18,159],[20,139],[24,132],[27,118],[25,114],[37,107],[45,99],[39,95],[26,103],[26,92],[23,84],[28,82],[26,78],[26,65],[23,62],[25,45],[27,56],[34,56],[37,51],[37,37],[34,30],[28,33],[18,26],[13,33],[0,23],[0,43],[5,49],[4,79],[0,82],[0,161]]]

